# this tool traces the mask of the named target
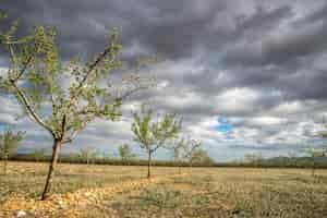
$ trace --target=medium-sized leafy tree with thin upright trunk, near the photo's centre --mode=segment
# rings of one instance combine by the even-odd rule
[[[142,106],[140,113],[134,112],[132,132],[134,141],[140,143],[141,148],[147,152],[147,178],[150,178],[153,154],[160,147],[165,147],[169,140],[178,137],[181,131],[181,120],[175,114],[166,113],[154,117],[150,109]]]

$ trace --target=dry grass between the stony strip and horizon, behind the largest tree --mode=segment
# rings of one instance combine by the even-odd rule
[[[31,198],[40,197],[47,170],[47,164],[10,162],[5,177],[1,175],[0,171],[0,204],[12,194]],[[172,171],[172,168],[153,168],[154,175],[169,174]],[[108,183],[145,177],[145,167],[62,164],[57,169],[53,192],[74,192],[83,187],[99,187]]]

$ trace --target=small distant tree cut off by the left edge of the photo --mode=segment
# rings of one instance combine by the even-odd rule
[[[23,132],[13,132],[11,130],[7,130],[0,135],[0,156],[3,161],[4,175],[7,174],[8,159],[15,155],[23,136]]]

